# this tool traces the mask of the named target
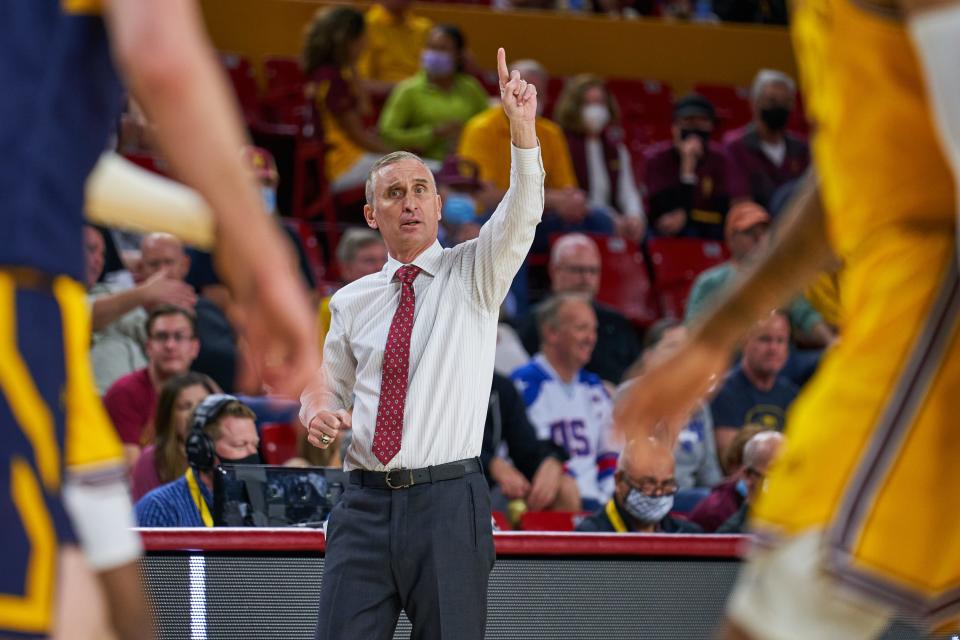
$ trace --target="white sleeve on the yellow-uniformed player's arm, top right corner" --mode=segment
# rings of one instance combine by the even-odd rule
[[[923,68],[940,144],[960,184],[960,2],[900,0]]]

